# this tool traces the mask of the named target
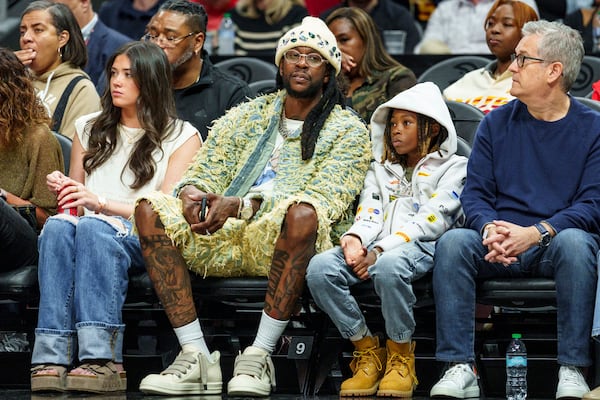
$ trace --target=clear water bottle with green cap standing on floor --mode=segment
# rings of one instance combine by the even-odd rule
[[[513,333],[506,349],[506,398],[527,398],[527,349],[520,333]]]

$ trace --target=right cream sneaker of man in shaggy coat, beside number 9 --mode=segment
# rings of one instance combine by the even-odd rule
[[[275,367],[266,350],[246,347],[235,358],[233,378],[227,385],[229,396],[268,396],[275,388]]]

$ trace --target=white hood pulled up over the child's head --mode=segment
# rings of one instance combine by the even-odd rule
[[[440,145],[441,158],[456,153],[456,129],[448,111],[448,106],[440,89],[432,82],[418,83],[410,89],[398,93],[383,103],[371,117],[371,146],[375,160],[381,161],[383,155],[383,133],[390,110],[407,110],[435,119],[448,131],[448,137]]]

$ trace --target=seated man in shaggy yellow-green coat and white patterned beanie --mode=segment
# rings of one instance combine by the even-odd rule
[[[219,118],[174,196],[138,200],[146,269],[181,345],[171,366],[142,379],[144,393],[221,393],[220,354],[208,349],[191,293],[196,273],[268,277],[256,338],[236,357],[227,392],[269,396],[271,354],[308,262],[350,223],[371,154],[365,125],[343,109],[335,37],[305,17],[279,40],[275,64],[281,90]]]

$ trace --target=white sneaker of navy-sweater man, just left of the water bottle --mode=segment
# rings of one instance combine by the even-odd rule
[[[467,399],[479,397],[477,375],[469,364],[456,364],[449,368],[431,388],[430,397]]]

